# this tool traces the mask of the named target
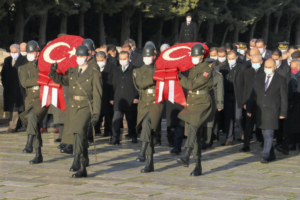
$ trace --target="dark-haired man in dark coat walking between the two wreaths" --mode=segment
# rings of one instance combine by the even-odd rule
[[[128,124],[128,134],[132,135],[132,143],[137,143],[137,103],[139,93],[134,87],[132,78],[133,70],[137,67],[129,62],[129,53],[121,51],[119,54],[120,65],[115,69],[113,76],[114,96],[110,100],[113,105],[113,139],[109,145],[120,144],[121,123],[126,117]]]

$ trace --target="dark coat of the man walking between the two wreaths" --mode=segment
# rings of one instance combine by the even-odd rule
[[[134,99],[139,99],[139,92],[134,87],[133,70],[137,67],[131,63],[123,73],[121,65],[117,66],[113,76],[113,110],[137,111],[137,103]]]

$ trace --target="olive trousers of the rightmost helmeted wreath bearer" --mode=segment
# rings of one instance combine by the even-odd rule
[[[193,159],[201,158],[201,133],[198,128],[193,124],[185,122],[185,130],[187,131],[187,140],[185,141],[184,148],[191,147],[193,149]],[[201,127],[200,127],[201,130]]]

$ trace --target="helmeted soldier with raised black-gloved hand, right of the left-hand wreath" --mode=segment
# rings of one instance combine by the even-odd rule
[[[85,161],[88,160],[88,141],[85,129],[91,116],[92,126],[99,120],[102,80],[101,73],[88,65],[90,53],[87,46],[78,46],[75,55],[78,66],[68,69],[65,75],[61,76],[56,72],[57,65],[52,64],[49,77],[55,83],[70,88],[71,99],[66,106],[64,134],[73,135],[74,161],[70,171],[78,171],[72,177],[81,178],[87,176]]]

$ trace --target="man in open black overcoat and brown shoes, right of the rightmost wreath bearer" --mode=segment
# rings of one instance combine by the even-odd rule
[[[227,52],[228,63],[220,67],[224,79],[224,116],[227,141],[221,146],[232,145],[234,121],[238,124],[241,137],[244,135],[243,90],[245,67],[237,62],[236,51]]]

